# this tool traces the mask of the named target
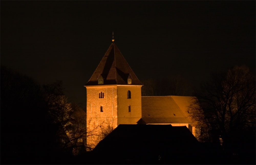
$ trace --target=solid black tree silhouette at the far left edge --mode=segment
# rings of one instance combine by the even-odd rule
[[[1,66],[1,163],[40,161],[54,148],[47,103],[33,79]]]

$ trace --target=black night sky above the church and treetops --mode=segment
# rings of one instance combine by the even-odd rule
[[[41,84],[63,80],[70,101],[115,43],[140,80],[255,72],[255,1],[1,1],[1,64]]]

